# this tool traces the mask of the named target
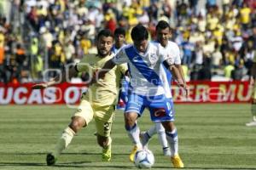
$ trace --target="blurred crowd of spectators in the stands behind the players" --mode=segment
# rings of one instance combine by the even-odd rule
[[[159,20],[172,27],[188,81],[247,80],[255,0],[0,0],[0,82],[42,81],[44,71],[79,62],[96,53],[102,28],[125,28],[131,43],[131,28],[142,23],[154,40]]]

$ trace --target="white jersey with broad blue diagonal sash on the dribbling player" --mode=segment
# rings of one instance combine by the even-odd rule
[[[139,53],[133,45],[127,45],[113,57],[116,65],[128,63],[133,93],[144,96],[165,94],[168,98],[172,97],[170,81],[162,64],[171,56],[160,52],[159,45],[158,42],[148,42],[145,54]]]

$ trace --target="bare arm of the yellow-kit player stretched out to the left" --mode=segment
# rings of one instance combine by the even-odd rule
[[[55,84],[58,84],[61,82],[66,82],[67,77],[71,78],[74,75],[76,75],[76,73],[77,73],[77,71],[75,69],[75,66],[72,66],[68,70],[68,75],[66,74],[66,71],[61,71],[60,75],[57,75],[56,77],[51,79],[49,82],[42,82],[42,83],[35,84],[32,86],[32,89],[44,89],[44,88],[48,88],[50,86],[54,86]]]

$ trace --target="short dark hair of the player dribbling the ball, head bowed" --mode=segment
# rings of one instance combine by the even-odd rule
[[[148,40],[148,30],[142,24],[138,24],[131,30],[132,41],[143,41]]]

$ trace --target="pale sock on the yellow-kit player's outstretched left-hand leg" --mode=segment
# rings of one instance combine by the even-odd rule
[[[70,127],[67,127],[64,132],[61,134],[61,138],[58,140],[57,144],[55,145],[55,150],[53,151],[53,155],[56,157],[60,156],[61,151],[65,150],[70,144],[71,140],[73,139],[75,132]]]

